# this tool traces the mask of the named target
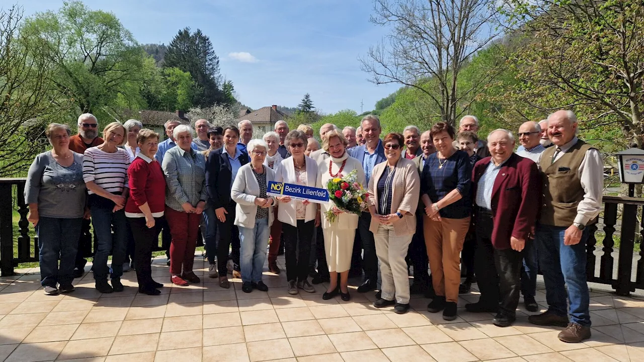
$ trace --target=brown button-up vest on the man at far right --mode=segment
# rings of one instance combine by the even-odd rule
[[[551,164],[556,147],[545,149],[539,166],[542,172],[543,197],[539,223],[560,227],[573,225],[577,205],[583,200],[582,182],[577,175],[586,151],[592,146],[578,140],[573,147]]]

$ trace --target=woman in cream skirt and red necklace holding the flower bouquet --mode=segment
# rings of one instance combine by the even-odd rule
[[[328,152],[329,158],[321,160],[317,166],[317,187],[327,188],[332,178],[348,175],[354,169],[357,171],[357,182],[365,186],[365,171],[362,164],[346,153],[346,138],[337,129],[327,131],[322,137],[322,148]],[[331,210],[337,215],[330,222],[325,213]],[[348,290],[349,268],[354,249],[355,229],[358,227],[358,215],[348,214],[337,209],[331,202],[321,204],[322,231],[324,246],[327,254],[327,265],[330,282],[322,299],[329,300],[340,294],[342,300],[351,299]],[[337,285],[337,274],[340,274],[340,285]]]

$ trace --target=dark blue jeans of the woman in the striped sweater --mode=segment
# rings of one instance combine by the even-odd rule
[[[92,269],[96,281],[108,279],[110,251],[112,252],[111,278],[120,280],[123,275],[123,263],[128,247],[128,221],[124,209],[112,213],[112,208],[113,206],[104,204],[90,204],[91,224],[98,244]]]

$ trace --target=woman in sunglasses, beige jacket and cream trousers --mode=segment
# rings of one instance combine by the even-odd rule
[[[374,167],[367,198],[372,215],[369,230],[374,233],[383,278],[381,297],[374,301],[374,307],[395,305],[393,311],[404,314],[409,310],[410,298],[405,257],[416,232],[414,213],[421,193],[421,178],[413,160],[401,157],[403,135],[389,133],[383,144],[387,160]]]

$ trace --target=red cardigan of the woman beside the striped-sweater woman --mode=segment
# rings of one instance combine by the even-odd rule
[[[160,164],[153,158],[137,155],[128,168],[129,198],[126,216],[143,217],[138,207],[147,202],[153,216],[160,217],[166,208],[166,178]]]

